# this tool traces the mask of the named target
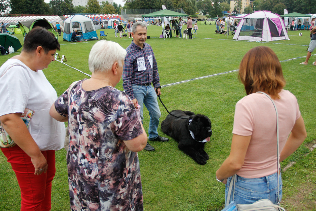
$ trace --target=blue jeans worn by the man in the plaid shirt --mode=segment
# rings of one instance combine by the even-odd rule
[[[144,104],[149,111],[149,128],[148,128],[148,138],[155,139],[158,136],[157,128],[159,125],[159,118],[161,116],[160,109],[157,101],[157,94],[155,89],[149,85],[137,85],[132,84],[132,89],[134,97],[137,99],[138,104],[141,106],[140,117],[143,121],[143,110]]]

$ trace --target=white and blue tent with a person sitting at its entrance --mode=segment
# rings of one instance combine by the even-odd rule
[[[71,34],[77,29],[77,33],[81,35],[81,39],[99,40],[95,31],[95,27],[91,18],[83,15],[69,16],[64,20],[64,40],[71,42]]]

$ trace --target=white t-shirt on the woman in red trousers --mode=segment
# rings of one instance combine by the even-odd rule
[[[5,73],[4,71],[13,66]],[[4,74],[3,74],[4,73]],[[49,115],[57,93],[43,71],[32,71],[18,59],[8,59],[0,67],[0,116],[34,111],[28,131],[40,150],[60,150],[64,146],[65,125]]]

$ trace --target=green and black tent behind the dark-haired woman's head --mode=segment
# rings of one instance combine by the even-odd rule
[[[58,40],[58,34],[55,31],[53,25],[50,22],[48,22],[45,18],[44,19],[33,19],[33,20],[29,20],[29,21],[22,21],[22,22],[19,22],[19,24],[21,27],[21,32],[23,34],[23,37],[25,37],[25,35],[29,31],[31,31],[32,28],[39,26],[39,27],[45,28],[46,30],[52,32]]]

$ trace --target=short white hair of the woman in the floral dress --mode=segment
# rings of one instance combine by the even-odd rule
[[[91,48],[89,54],[89,70],[91,72],[107,72],[113,64],[118,62],[119,67],[123,66],[126,50],[117,42],[100,40]]]

